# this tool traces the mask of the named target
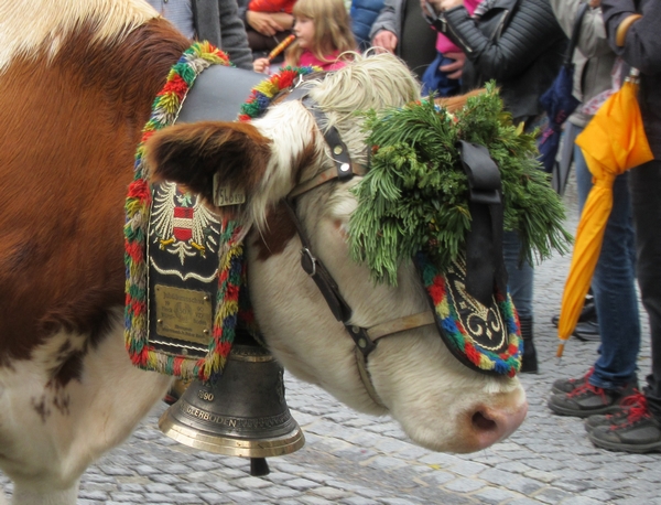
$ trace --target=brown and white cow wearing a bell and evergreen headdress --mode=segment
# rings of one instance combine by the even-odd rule
[[[188,41],[141,0],[14,0],[0,3],[0,469],[15,504],[74,504],[85,469],[131,433],[171,382],[132,367],[124,350],[123,201],[153,97]],[[365,161],[351,112],[400,106],[419,89],[382,56],[349,65],[312,95]],[[280,205],[296,181],[330,163],[300,103],[252,125],[175,126],[150,148],[158,176],[208,195],[196,182],[206,176],[185,173],[213,157],[214,170],[249,193],[256,315],[294,375],[356,409],[392,415],[434,450],[475,451],[522,421],[519,382],[466,368],[433,326],[380,342],[368,369],[383,406],[370,398],[353,341],[300,268],[301,245]],[[185,171],[169,158],[181,149],[197,153]],[[351,184],[302,195],[297,212],[353,323],[425,310],[413,267],[402,267],[397,288],[373,286],[349,259]]]

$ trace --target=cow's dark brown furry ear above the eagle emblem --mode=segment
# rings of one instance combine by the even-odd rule
[[[262,179],[271,141],[245,122],[202,121],[156,131],[145,144],[152,181],[185,185],[213,201],[214,175],[250,194]]]

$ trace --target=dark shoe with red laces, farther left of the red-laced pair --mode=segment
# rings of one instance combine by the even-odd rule
[[[575,387],[572,393],[560,393],[549,399],[549,408],[561,416],[589,417],[596,413],[614,413],[625,398],[631,396],[636,384],[604,389],[589,383]]]

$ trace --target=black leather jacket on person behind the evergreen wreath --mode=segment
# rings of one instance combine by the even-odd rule
[[[479,19],[464,7],[443,18],[444,33],[467,57],[464,92],[495,79],[514,119],[543,111],[539,98],[557,75],[567,44],[549,0],[495,0]]]

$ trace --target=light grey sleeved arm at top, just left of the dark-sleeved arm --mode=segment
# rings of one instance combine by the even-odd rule
[[[574,20],[582,0],[550,0],[553,13],[567,37],[572,36]],[[592,4],[592,2],[590,2]],[[585,57],[604,56],[613,52],[606,39],[606,28],[602,17],[602,8],[588,9],[581,23],[578,35],[578,51]]]

